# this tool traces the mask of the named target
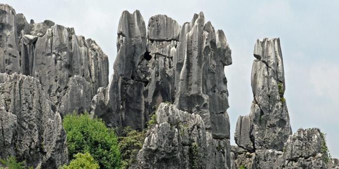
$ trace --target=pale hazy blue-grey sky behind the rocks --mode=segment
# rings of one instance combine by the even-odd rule
[[[234,133],[239,115],[250,111],[250,84],[256,39],[280,37],[285,66],[285,98],[293,132],[319,127],[327,133],[330,152],[339,158],[339,0],[2,0],[29,22],[45,19],[74,27],[94,39],[115,60],[116,36],[123,10],[150,16],[167,14],[179,24],[203,11],[206,21],[222,29],[232,49],[226,67],[227,110]],[[233,135],[232,144],[234,143]]]

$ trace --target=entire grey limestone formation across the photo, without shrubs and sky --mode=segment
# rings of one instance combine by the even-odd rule
[[[0,159],[68,163],[62,116],[87,111],[108,127],[147,130],[131,169],[339,169],[320,129],[292,133],[279,38],[256,41],[254,98],[236,122],[236,146],[224,71],[231,49],[202,12],[180,25],[123,11],[117,50],[108,81],[108,57],[94,40],[50,20],[28,23],[0,4]]]

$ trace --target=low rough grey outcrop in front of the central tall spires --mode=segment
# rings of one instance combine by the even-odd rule
[[[138,154],[141,169],[206,169],[207,140],[199,115],[161,103],[157,124],[150,128]]]

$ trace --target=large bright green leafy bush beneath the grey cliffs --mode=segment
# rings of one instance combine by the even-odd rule
[[[67,114],[63,119],[67,135],[69,159],[77,153],[88,152],[101,169],[120,167],[120,152],[117,136],[101,119],[91,119],[88,113]]]

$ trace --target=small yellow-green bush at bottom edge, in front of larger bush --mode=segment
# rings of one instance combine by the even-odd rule
[[[63,165],[59,169],[99,169],[99,164],[88,153],[77,153],[68,165]]]

